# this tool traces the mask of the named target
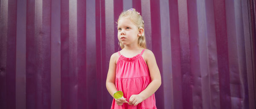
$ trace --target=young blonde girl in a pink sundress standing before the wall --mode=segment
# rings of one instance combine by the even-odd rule
[[[157,109],[154,92],[161,85],[153,52],[146,49],[144,22],[135,9],[123,11],[117,20],[121,51],[111,55],[106,86],[114,95],[111,109]]]

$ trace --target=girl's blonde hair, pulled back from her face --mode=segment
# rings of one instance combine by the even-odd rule
[[[126,11],[123,11],[120,15],[119,18],[117,20],[117,22],[124,17],[128,17],[137,27],[138,29],[143,28],[143,35],[139,37],[138,39],[138,45],[142,48],[147,48],[146,45],[146,39],[145,39],[145,29],[144,29],[144,21],[142,19],[142,16],[140,15],[140,13],[138,11],[136,11],[135,9],[129,9]],[[120,41],[118,42],[119,46],[121,47],[121,49],[125,48],[125,46],[120,43]]]

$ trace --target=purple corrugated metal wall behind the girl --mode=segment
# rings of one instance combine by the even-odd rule
[[[0,0],[0,109],[110,109],[116,20],[145,22],[158,109],[255,109],[255,0]]]

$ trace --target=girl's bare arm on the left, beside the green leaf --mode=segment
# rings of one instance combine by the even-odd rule
[[[108,75],[106,80],[106,87],[112,97],[114,93],[117,91],[116,85],[115,85],[115,77],[116,77],[116,53],[112,54],[110,57]]]

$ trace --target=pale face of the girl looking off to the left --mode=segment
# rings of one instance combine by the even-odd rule
[[[129,18],[121,18],[117,23],[118,40],[124,45],[137,44],[139,29]]]

